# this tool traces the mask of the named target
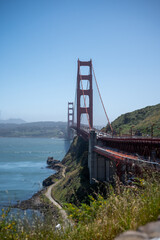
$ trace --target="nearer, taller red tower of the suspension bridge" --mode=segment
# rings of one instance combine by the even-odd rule
[[[80,67],[81,66],[88,66],[89,67],[89,74],[88,75],[81,75]],[[83,80],[88,80],[89,82],[89,89],[83,89]],[[83,96],[84,95],[84,96]],[[89,106],[82,107],[81,106],[81,96],[82,97],[89,97]],[[93,128],[93,89],[92,89],[92,60],[80,61],[78,59],[78,71],[77,71],[77,129],[80,129],[81,126],[81,114],[88,114],[89,120],[89,127],[90,129]]]

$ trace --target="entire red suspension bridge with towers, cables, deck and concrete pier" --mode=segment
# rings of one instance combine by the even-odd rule
[[[89,67],[89,73],[81,74],[81,67]],[[93,125],[93,79],[95,80],[98,95],[110,126],[110,134],[97,130]],[[86,88],[84,82],[87,81]],[[82,116],[85,115],[87,124],[83,124]],[[126,168],[133,168],[139,164],[147,166],[160,166],[160,138],[117,137],[109,121],[102,96],[98,87],[95,71],[90,61],[78,59],[77,86],[75,102],[68,103],[68,137],[77,135],[89,140],[88,167],[90,182],[93,179],[110,181],[113,172],[120,166],[121,172]]]

